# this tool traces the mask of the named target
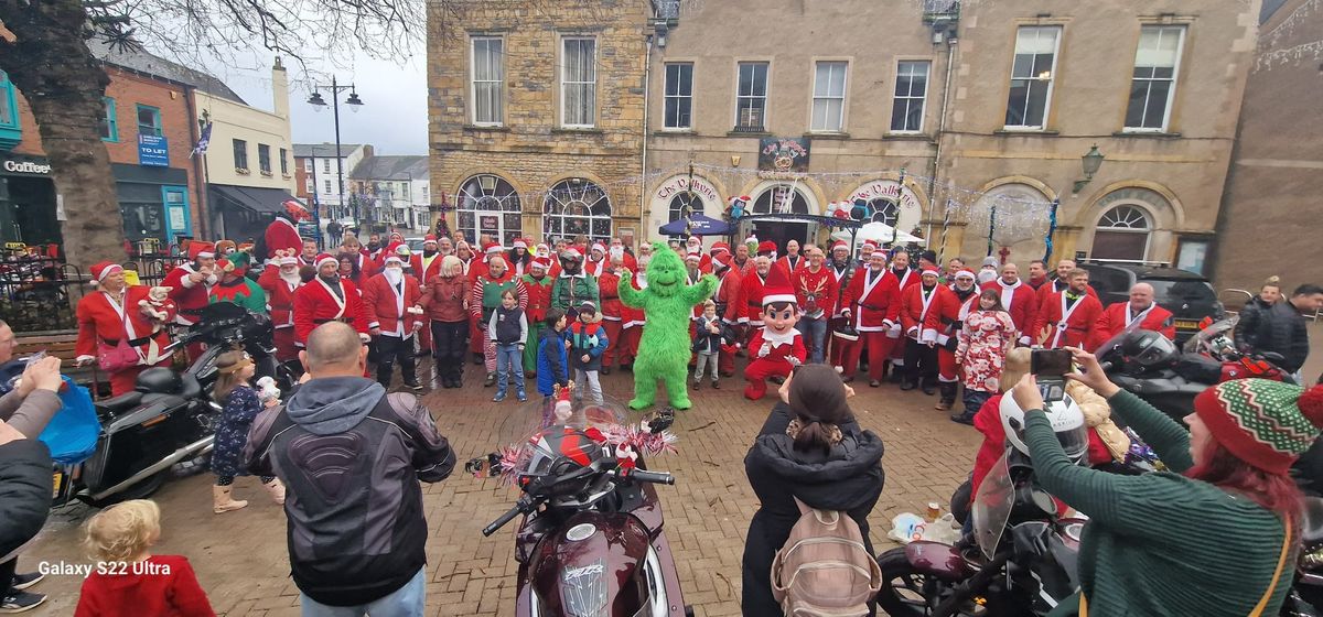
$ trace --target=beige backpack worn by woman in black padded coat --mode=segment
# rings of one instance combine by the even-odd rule
[[[859,523],[795,498],[799,521],[771,563],[771,595],[786,617],[861,617],[882,588],[882,571]]]

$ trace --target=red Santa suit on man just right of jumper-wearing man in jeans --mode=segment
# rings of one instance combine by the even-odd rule
[[[849,279],[849,287],[841,295],[845,304],[851,325],[859,332],[859,341],[837,340],[841,345],[840,365],[843,375],[855,377],[859,370],[859,355],[864,344],[868,346],[868,378],[882,379],[882,366],[892,355],[892,347],[897,340],[890,338],[890,332],[900,325],[901,288],[900,280],[892,275],[890,270],[882,268],[873,272],[872,268],[859,268]]]

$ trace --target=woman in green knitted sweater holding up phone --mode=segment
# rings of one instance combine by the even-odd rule
[[[1291,587],[1301,493],[1291,462],[1319,436],[1323,388],[1265,379],[1209,387],[1189,431],[1111,383],[1073,349],[1069,378],[1106,396],[1171,472],[1115,476],[1066,458],[1033,375],[1012,395],[1043,488],[1086,514],[1081,593],[1052,614],[1244,617],[1277,614]],[[1082,596],[1082,597],[1081,597]]]

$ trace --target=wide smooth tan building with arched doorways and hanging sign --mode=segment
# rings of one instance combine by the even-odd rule
[[[753,11],[758,36],[732,37]],[[1027,260],[1045,252],[1058,201],[1056,256],[1203,270],[1254,59],[1252,11],[703,3],[650,58],[646,227],[688,201],[714,217],[732,196],[751,197],[754,213],[861,202],[856,217],[934,248],[945,227],[949,256],[1005,247]],[[1094,145],[1101,169],[1077,182]],[[778,170],[778,156],[807,174]],[[758,227],[778,242],[823,235],[794,221]]]

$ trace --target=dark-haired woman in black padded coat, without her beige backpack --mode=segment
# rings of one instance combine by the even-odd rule
[[[781,402],[745,456],[745,473],[762,503],[744,552],[744,614],[781,616],[771,596],[771,562],[799,521],[795,498],[840,510],[868,544],[868,514],[882,494],[882,440],[864,431],[845,399],[855,392],[827,365],[803,365],[781,386]]]

